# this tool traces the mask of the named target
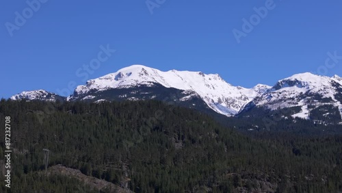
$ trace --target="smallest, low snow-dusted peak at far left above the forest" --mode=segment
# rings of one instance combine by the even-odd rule
[[[31,91],[24,91],[19,94],[15,94],[10,99],[12,100],[41,100],[41,101],[57,101],[61,100],[64,101],[65,97],[61,97],[53,92],[47,92],[46,90],[31,90]]]

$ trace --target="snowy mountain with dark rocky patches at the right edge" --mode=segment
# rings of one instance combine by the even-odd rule
[[[313,114],[339,116],[342,114],[342,86],[338,76],[324,77],[311,73],[301,73],[282,79],[271,89],[255,97],[243,112],[254,107],[267,110],[300,107],[293,118],[313,118]]]

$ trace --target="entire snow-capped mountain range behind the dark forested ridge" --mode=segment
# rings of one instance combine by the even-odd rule
[[[218,74],[133,65],[77,86],[69,97],[45,90],[21,92],[10,99],[42,101],[122,101],[155,99],[225,116],[251,111],[291,109],[291,118],[341,123],[342,78],[301,73],[274,86],[232,86]],[[289,117],[284,117],[289,118]],[[331,121],[330,121],[331,122]]]

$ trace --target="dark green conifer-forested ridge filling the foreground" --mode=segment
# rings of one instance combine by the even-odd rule
[[[42,149],[51,151],[49,166],[127,184],[133,192],[342,191],[341,135],[251,137],[160,101],[2,99],[1,125],[5,116],[11,116],[14,170],[12,188],[2,183],[0,192],[94,191],[76,179],[44,177]],[[3,157],[4,138],[0,146]]]

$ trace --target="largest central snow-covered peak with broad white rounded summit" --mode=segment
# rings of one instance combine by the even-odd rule
[[[133,65],[122,68],[97,79],[87,81],[84,86],[77,86],[68,100],[94,99],[101,92],[113,89],[127,89],[140,87],[175,88],[183,91],[181,101],[192,97],[199,97],[215,112],[227,116],[235,115],[241,107],[252,101],[254,97],[263,94],[270,86],[257,85],[254,88],[232,86],[218,74],[206,75],[202,72],[169,70],[163,72],[155,68]],[[123,96],[124,97],[124,96]],[[100,99],[96,97],[96,99]]]

